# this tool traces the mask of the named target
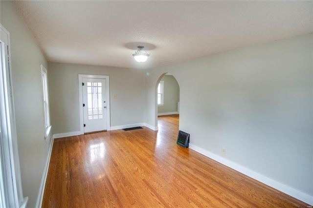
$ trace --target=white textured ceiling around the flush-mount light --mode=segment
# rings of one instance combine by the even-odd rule
[[[313,1],[16,1],[50,62],[150,68],[313,32]],[[151,53],[134,61],[137,45]]]

